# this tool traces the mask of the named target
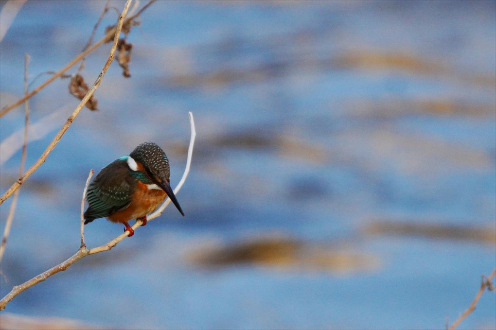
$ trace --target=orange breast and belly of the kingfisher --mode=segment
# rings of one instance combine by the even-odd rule
[[[162,189],[148,189],[141,181],[136,182],[136,189],[131,195],[131,204],[120,212],[108,217],[113,222],[126,222],[152,213],[162,204],[167,194]]]

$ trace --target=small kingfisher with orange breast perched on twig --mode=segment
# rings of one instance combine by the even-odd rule
[[[107,217],[124,224],[128,237],[134,230],[127,221],[136,219],[146,224],[146,215],[169,196],[178,211],[184,212],[170,185],[169,159],[153,142],[137,146],[129,156],[123,156],[102,168],[88,186],[84,224]]]

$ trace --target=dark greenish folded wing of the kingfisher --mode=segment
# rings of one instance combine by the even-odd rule
[[[117,160],[102,168],[88,186],[86,200],[88,209],[84,219],[91,222],[122,211],[131,203],[135,179],[129,175],[125,161]]]

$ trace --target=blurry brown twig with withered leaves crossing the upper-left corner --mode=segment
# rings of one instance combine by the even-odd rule
[[[148,8],[148,6],[150,6],[150,4],[152,4],[155,1],[156,0],[150,0],[147,4],[145,4],[143,6],[143,8],[141,8],[140,10],[138,10],[137,13],[135,13],[134,15],[130,16],[129,18],[127,18],[124,21],[124,24],[127,24],[128,22],[130,22],[134,18],[138,17],[143,12],[143,10],[145,10],[146,8]],[[81,54],[79,54],[76,57],[74,57],[74,59],[72,59],[69,63],[67,63],[67,65],[65,65],[60,71],[58,71],[56,74],[54,74],[53,76],[51,76],[50,78],[48,78],[44,83],[42,83],[41,85],[39,85],[38,87],[36,87],[35,89],[33,89],[28,95],[25,95],[23,98],[17,100],[15,103],[11,104],[10,106],[3,107],[3,109],[0,110],[0,117],[3,116],[8,111],[10,111],[10,110],[14,109],[15,107],[17,107],[18,105],[20,105],[21,103],[23,103],[27,99],[31,98],[33,95],[37,94],[39,91],[41,91],[47,85],[49,85],[50,83],[52,83],[58,77],[62,76],[62,74],[65,71],[67,71],[72,66],[74,66],[82,58],[86,57],[86,55],[90,54],[91,52],[93,52],[94,50],[96,50],[98,47],[102,46],[107,40],[109,40],[109,38],[112,38],[112,36],[115,33],[116,33],[116,28],[111,29],[110,31],[107,32],[107,34],[102,39],[100,39],[99,41],[97,41],[93,46],[91,46],[90,48],[88,48],[86,51],[84,51]]]

